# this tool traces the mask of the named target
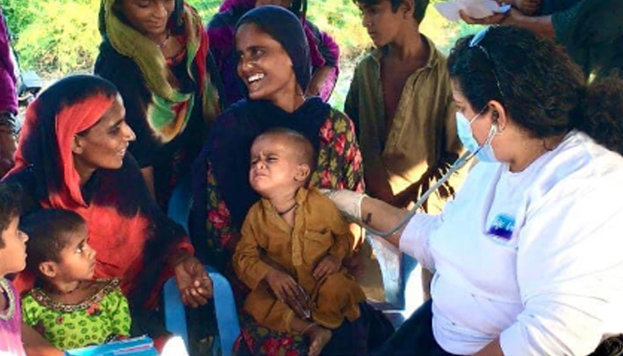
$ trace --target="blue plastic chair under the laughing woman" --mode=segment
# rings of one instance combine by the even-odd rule
[[[190,191],[190,177],[182,179],[174,189],[169,200],[167,214],[175,223],[179,223],[188,232],[188,220],[192,206]],[[238,312],[231,292],[230,282],[223,274],[206,266],[206,272],[212,279],[214,287],[214,312],[218,326],[219,337],[214,343],[213,353],[231,355],[233,344],[240,334]],[[174,278],[169,279],[164,287],[165,323],[166,328],[176,335],[182,336],[188,346],[188,328],[186,327],[186,312],[182,303],[182,295],[177,288]]]

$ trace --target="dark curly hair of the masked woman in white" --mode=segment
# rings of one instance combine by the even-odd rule
[[[610,150],[623,153],[623,82],[609,77],[587,85],[562,47],[512,26],[491,27],[479,42],[457,41],[450,52],[450,79],[473,109],[499,101],[535,138],[578,129]],[[499,83],[499,85],[498,85]]]

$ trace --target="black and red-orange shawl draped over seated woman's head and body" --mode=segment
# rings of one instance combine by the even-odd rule
[[[159,287],[173,273],[167,256],[180,249],[193,252],[184,231],[154,203],[131,155],[120,169],[98,170],[93,184],[81,190],[72,152],[76,134],[97,125],[117,94],[114,85],[95,76],[66,77],[47,88],[28,107],[16,166],[5,179],[25,183],[41,207],[85,218],[97,251],[95,276],[122,278],[122,290],[134,303],[154,305]],[[32,279],[22,275],[16,284],[23,290]]]

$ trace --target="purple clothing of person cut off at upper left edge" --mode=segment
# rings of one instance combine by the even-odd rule
[[[0,112],[17,113],[15,65],[11,58],[9,31],[0,10]]]

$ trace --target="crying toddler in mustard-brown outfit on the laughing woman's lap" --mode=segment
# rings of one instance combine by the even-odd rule
[[[262,199],[247,214],[233,256],[239,278],[252,289],[245,310],[266,328],[310,338],[310,355],[344,319],[360,317],[365,295],[343,268],[354,239],[330,199],[306,188],[312,143],[287,129],[258,136],[249,181]]]

